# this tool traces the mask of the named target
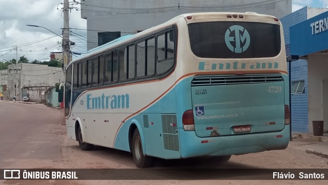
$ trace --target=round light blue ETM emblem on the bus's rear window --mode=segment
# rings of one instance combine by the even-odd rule
[[[238,25],[231,26],[226,31],[224,39],[226,40],[228,48],[234,53],[246,51],[251,43],[251,37],[248,31],[244,27]],[[233,43],[235,43],[234,46]]]

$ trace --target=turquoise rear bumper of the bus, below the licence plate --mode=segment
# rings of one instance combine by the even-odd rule
[[[280,132],[219,137],[198,137],[195,132],[180,130],[181,157],[224,156],[282,150],[288,147],[290,126]]]

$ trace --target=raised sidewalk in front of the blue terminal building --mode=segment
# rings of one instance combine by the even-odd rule
[[[314,136],[312,133],[292,133],[292,138],[288,147],[328,158],[328,133],[323,133],[323,136]]]

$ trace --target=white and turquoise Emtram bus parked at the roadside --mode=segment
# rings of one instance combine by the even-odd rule
[[[68,137],[165,159],[285,149],[282,25],[256,13],[191,13],[95,48],[67,67]]]

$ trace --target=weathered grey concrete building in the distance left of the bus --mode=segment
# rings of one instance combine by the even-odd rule
[[[25,63],[9,65],[7,98],[16,96],[21,101],[27,96],[30,101],[45,103],[46,90],[64,80],[65,75],[61,68]]]

